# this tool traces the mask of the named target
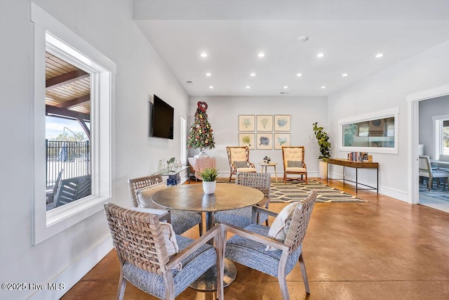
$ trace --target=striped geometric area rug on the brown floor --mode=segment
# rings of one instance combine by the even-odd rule
[[[305,199],[311,190],[316,190],[316,202],[369,202],[362,198],[356,197],[336,188],[319,183],[318,181],[309,180],[305,184],[304,181],[289,180],[286,184],[272,182],[269,195],[272,203],[289,203]]]

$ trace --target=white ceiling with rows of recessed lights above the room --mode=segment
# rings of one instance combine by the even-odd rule
[[[328,96],[449,40],[445,0],[134,0],[133,18],[189,96]]]

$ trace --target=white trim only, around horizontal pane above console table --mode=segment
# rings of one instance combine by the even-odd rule
[[[372,119],[384,119],[387,117],[394,117],[394,148],[382,147],[347,147],[343,146],[343,125],[365,122]],[[357,117],[350,117],[347,119],[338,120],[338,150],[340,151],[360,151],[360,152],[374,152],[374,153],[391,153],[398,154],[398,124],[399,124],[399,107],[394,107],[389,110],[382,110],[380,112],[371,112],[366,115],[359,115]]]

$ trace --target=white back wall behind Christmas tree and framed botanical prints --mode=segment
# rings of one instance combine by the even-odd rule
[[[198,101],[208,103],[208,119],[212,126],[215,149],[206,150],[208,155],[215,157],[217,169],[222,176],[229,176],[229,161],[226,146],[239,145],[239,115],[291,115],[290,145],[305,146],[305,162],[309,176],[319,176],[318,156],[319,148],[316,143],[312,124],[328,129],[328,107],[326,97],[312,96],[266,96],[266,97],[190,97],[188,127],[194,122],[194,114]],[[332,142],[332,141],[331,141]],[[189,150],[189,157],[198,154],[199,150]],[[272,162],[277,162],[278,176],[283,176],[281,150],[250,150],[250,162],[260,170],[259,162],[269,156]],[[274,169],[268,168],[272,172]]]

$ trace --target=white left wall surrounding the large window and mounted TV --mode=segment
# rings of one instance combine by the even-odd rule
[[[188,96],[132,20],[132,1],[36,0],[117,65],[113,104],[113,197],[128,207],[126,179],[156,171],[159,159],[180,157],[180,117]],[[1,145],[0,282],[58,282],[66,290],[102,259],[112,244],[102,212],[32,246],[32,23],[27,0],[0,1]],[[148,138],[152,95],[175,107],[175,139]],[[44,176],[44,174],[42,174]],[[103,245],[103,247],[100,247]],[[89,259],[87,259],[89,257]],[[60,281],[59,281],[60,282]],[[0,299],[25,299],[36,291],[5,291]],[[59,299],[61,293],[34,294]]]

